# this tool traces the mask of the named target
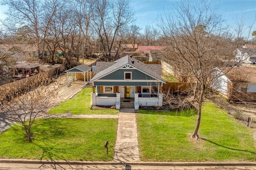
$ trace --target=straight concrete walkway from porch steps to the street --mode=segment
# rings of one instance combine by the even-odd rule
[[[120,109],[114,161],[140,161],[134,109]]]

